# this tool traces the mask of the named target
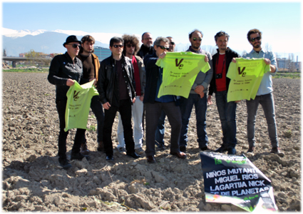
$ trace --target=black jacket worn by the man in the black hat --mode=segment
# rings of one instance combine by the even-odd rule
[[[73,61],[67,52],[53,57],[47,79],[51,84],[56,85],[56,101],[67,100],[66,93],[69,86],[66,86],[66,81],[68,78],[79,84],[87,83],[88,80],[83,79],[82,76],[82,62],[77,57]]]

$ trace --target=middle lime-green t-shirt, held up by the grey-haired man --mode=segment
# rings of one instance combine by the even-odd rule
[[[210,70],[205,55],[188,52],[167,52],[159,58],[157,66],[163,68],[163,81],[158,98],[163,95],[175,95],[188,98],[197,73]]]

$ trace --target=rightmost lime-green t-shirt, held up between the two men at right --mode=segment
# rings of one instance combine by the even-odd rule
[[[255,99],[264,74],[270,71],[264,58],[236,58],[236,63],[230,63],[227,77],[230,86],[227,92],[227,102]]]

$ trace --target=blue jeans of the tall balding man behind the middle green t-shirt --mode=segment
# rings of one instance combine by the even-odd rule
[[[199,94],[190,93],[188,98],[181,97],[180,108],[182,114],[182,128],[180,135],[180,146],[188,145],[188,123],[190,122],[190,114],[192,107],[195,105],[195,114],[197,120],[197,143],[199,148],[207,146],[208,137],[206,133],[206,109],[207,98],[206,95],[200,98]]]

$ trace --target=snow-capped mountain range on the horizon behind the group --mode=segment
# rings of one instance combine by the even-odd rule
[[[113,36],[122,36],[122,34],[110,33],[88,33],[84,31],[46,31],[46,30],[14,30],[2,27],[2,47],[6,50],[6,56],[19,56],[21,53],[27,53],[33,49],[36,52],[44,54],[65,53],[63,47],[64,41],[69,35],[76,35],[78,39],[82,36],[91,35],[95,38],[95,46],[107,48],[109,41]],[[140,35],[135,35],[140,38]],[[139,39],[140,40],[140,39]],[[190,44],[176,44],[176,51],[186,51]],[[212,52],[214,46],[202,46],[202,49]]]

